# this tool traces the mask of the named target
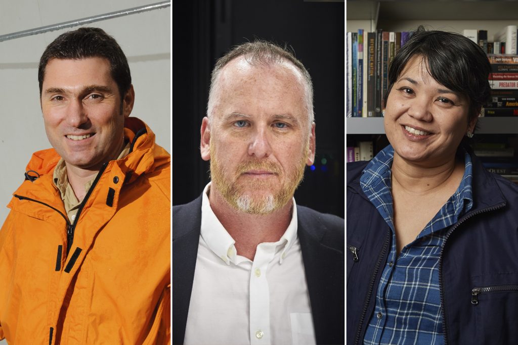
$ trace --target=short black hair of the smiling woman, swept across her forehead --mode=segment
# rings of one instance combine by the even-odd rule
[[[389,86],[383,97],[386,106],[392,86],[410,58],[422,56],[428,73],[439,84],[467,97],[468,119],[479,116],[490,97],[491,64],[486,53],[469,38],[444,31],[426,31],[420,25],[396,54],[389,67]]]

